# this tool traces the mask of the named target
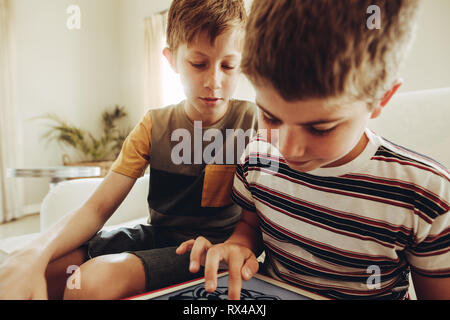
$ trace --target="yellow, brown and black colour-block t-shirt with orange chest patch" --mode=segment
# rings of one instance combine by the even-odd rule
[[[111,170],[139,178],[150,165],[150,223],[186,238],[223,241],[241,213],[231,188],[249,133],[257,130],[256,106],[231,100],[222,120],[200,128],[187,117],[184,103],[149,110]]]

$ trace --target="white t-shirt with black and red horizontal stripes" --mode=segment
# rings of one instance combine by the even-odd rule
[[[402,299],[409,270],[450,277],[450,174],[370,130],[353,161],[295,171],[258,136],[233,200],[256,212],[274,278],[334,299]]]

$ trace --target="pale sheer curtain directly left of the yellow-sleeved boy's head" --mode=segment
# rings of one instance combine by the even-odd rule
[[[144,103],[145,108],[163,106],[162,51],[165,45],[167,12],[145,18]]]

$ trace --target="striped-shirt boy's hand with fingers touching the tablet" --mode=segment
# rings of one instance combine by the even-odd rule
[[[250,280],[259,268],[258,260],[253,252],[245,246],[225,242],[212,245],[207,239],[183,242],[177,248],[177,254],[191,251],[189,271],[198,272],[200,265],[205,266],[205,289],[214,292],[217,288],[217,271],[219,264],[228,264],[228,299],[239,300],[241,297],[242,279]]]

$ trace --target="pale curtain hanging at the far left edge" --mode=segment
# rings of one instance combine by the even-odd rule
[[[12,1],[0,0],[0,223],[23,215],[20,179],[6,177],[6,169],[22,164],[20,117],[14,106],[11,40]]]

